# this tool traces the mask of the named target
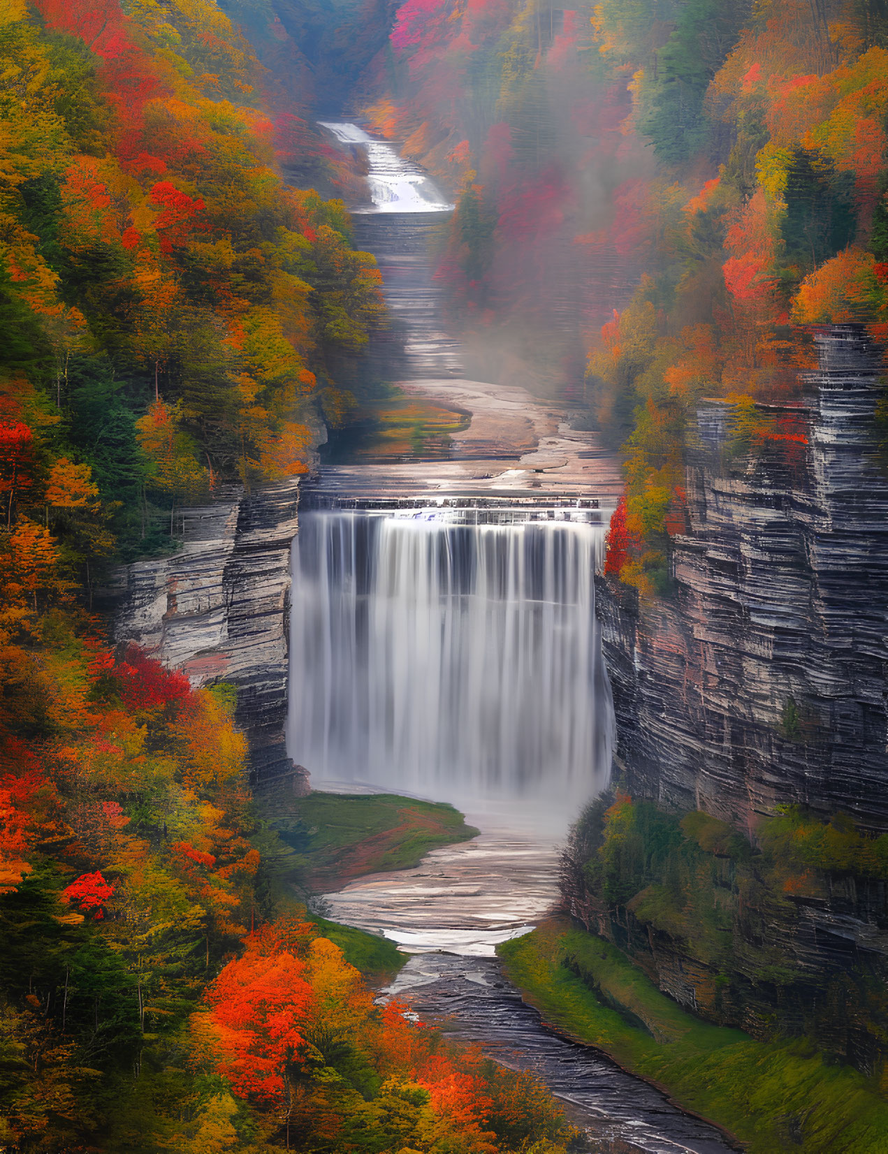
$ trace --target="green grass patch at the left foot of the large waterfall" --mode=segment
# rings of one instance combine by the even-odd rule
[[[430,849],[478,833],[453,805],[397,794],[312,793],[271,824],[299,856],[301,882],[313,893],[364,874],[411,869]]]

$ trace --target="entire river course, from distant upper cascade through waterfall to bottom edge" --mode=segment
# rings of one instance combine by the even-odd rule
[[[714,1126],[546,1027],[494,953],[555,906],[566,826],[606,779],[613,722],[591,576],[606,519],[597,499],[612,508],[619,473],[557,413],[544,427],[521,390],[460,379],[425,255],[430,219],[452,207],[394,145],[326,127],[365,153],[356,234],[378,254],[406,337],[412,377],[400,383],[469,397],[484,437],[462,459],[457,445],[452,462],[330,469],[306,487],[291,756],[315,788],[453,801],[480,830],[416,869],[324,896],[324,913],[410,954],[381,996],[536,1072],[598,1149],[726,1152]],[[527,427],[549,441],[508,459],[503,442]]]

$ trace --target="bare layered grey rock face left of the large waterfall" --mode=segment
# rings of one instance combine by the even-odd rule
[[[254,786],[307,774],[286,756],[290,545],[297,480],[245,494],[231,486],[177,512],[181,548],[137,561],[113,591],[114,638],[135,642],[193,685],[237,685],[237,722],[249,740]]]

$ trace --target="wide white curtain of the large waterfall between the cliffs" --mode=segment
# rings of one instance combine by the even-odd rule
[[[303,514],[293,760],[315,782],[575,812],[605,784],[612,741],[592,580],[604,530],[589,516]]]

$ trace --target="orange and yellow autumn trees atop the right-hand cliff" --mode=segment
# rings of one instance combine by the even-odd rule
[[[632,73],[629,123],[657,158],[639,205],[642,232],[658,223],[646,275],[587,370],[600,426],[628,434],[636,538],[612,568],[650,593],[684,525],[643,514],[663,493],[680,505],[700,400],[729,402],[736,452],[792,465],[807,443],[793,409],[806,330],[888,334],[888,24],[844,0],[678,5],[656,28],[636,9],[598,13],[599,52]]]

